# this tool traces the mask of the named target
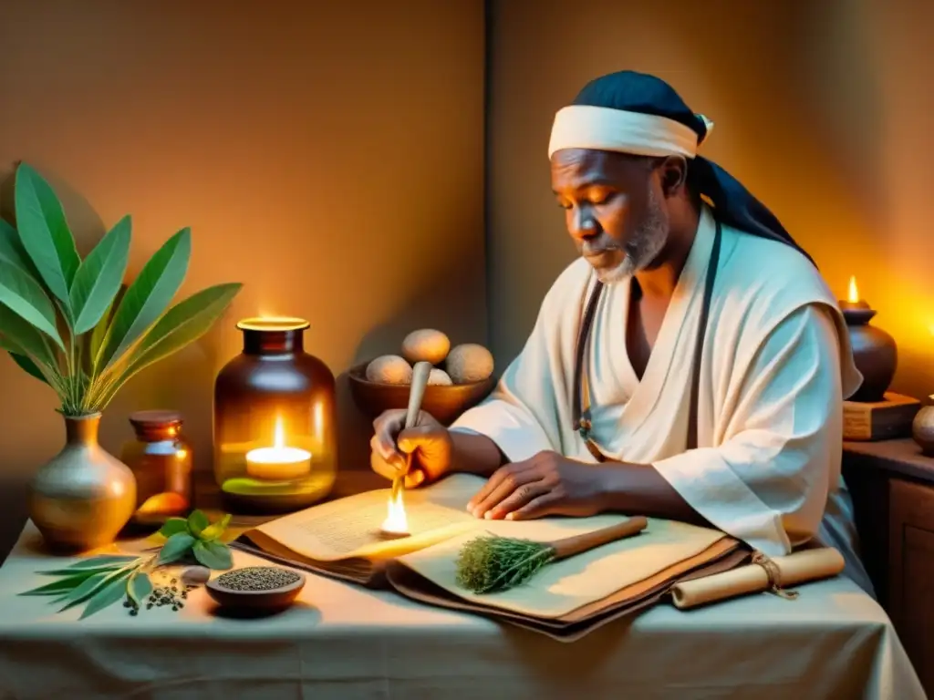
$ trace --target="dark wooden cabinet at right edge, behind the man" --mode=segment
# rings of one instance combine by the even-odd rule
[[[934,695],[934,458],[910,438],[846,442],[843,477],[879,601]]]

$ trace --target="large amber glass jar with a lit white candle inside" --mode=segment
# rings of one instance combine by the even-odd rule
[[[304,351],[301,318],[237,323],[243,351],[214,386],[214,473],[224,507],[275,513],[331,493],[337,473],[334,375]]]

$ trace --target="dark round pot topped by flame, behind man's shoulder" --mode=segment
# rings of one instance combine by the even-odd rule
[[[892,384],[898,364],[895,339],[883,329],[870,326],[872,309],[843,310],[856,369],[863,375],[863,384],[849,400],[871,403],[884,399]]]

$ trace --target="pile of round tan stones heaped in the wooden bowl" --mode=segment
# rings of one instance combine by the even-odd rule
[[[413,330],[403,340],[402,355],[382,355],[366,366],[366,378],[379,384],[409,385],[416,362],[434,365],[428,385],[483,382],[493,373],[493,356],[483,345],[463,343],[451,347],[445,333]]]

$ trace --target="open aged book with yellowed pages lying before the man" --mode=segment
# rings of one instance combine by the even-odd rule
[[[248,530],[233,543],[289,566],[424,603],[464,609],[570,640],[642,609],[677,581],[736,567],[749,552],[723,532],[648,519],[634,537],[552,563],[520,587],[474,595],[456,581],[460,547],[484,533],[554,541],[614,525],[625,515],[487,521],[466,511],[483,479],[455,474],[404,494],[410,536],[385,539],[389,489],[324,503]]]

